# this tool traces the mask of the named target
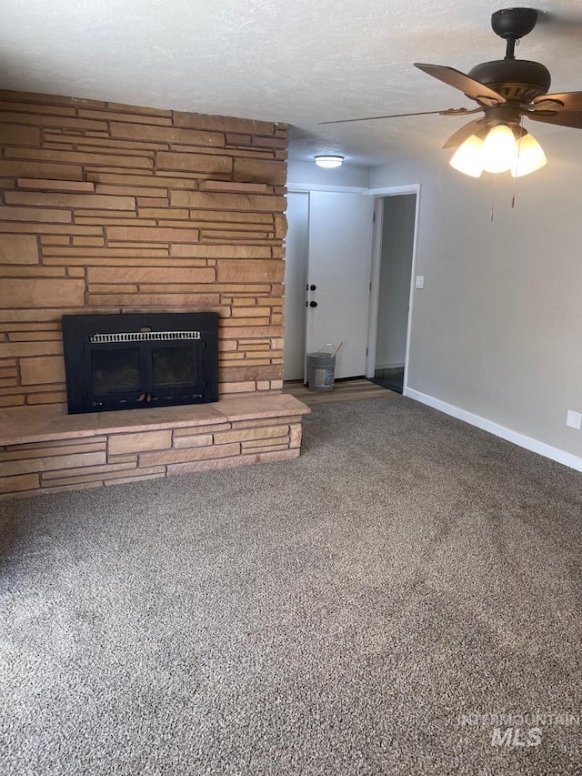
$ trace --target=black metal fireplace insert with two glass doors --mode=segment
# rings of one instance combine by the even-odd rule
[[[218,314],[63,316],[70,414],[218,399]]]

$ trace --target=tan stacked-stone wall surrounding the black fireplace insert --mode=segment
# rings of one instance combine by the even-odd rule
[[[65,313],[216,310],[282,387],[285,125],[2,92],[0,145],[0,407],[65,402]]]

